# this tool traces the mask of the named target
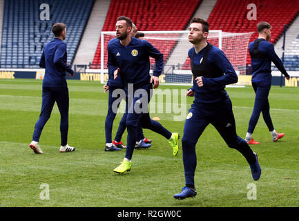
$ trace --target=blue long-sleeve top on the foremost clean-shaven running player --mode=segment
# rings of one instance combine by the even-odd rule
[[[195,48],[191,48],[188,52],[190,59],[193,59],[193,64],[195,66],[200,66],[203,61],[204,53],[206,48],[203,48],[198,52],[195,52]],[[226,55],[222,50],[216,46],[212,46],[207,54],[207,62],[209,66],[217,67],[221,73],[224,73],[221,77],[202,77],[203,86],[197,86],[195,79],[193,79],[193,87],[191,90],[195,91],[195,103],[200,104],[216,104],[219,102],[224,102],[229,98],[226,90],[224,90],[227,84],[234,84],[238,82],[238,75],[235,73],[233,66],[227,59]],[[212,75],[213,73],[211,73]]]

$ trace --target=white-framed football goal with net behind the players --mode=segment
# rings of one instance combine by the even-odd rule
[[[188,41],[189,31],[144,31],[144,40],[150,42],[164,55],[164,71],[160,76],[161,84],[193,84],[188,50],[192,44]],[[253,32],[231,33],[222,30],[209,30],[209,43],[222,49],[238,75],[245,75],[249,39]],[[108,80],[108,42],[115,38],[115,32],[101,34],[102,83]],[[155,69],[155,59],[150,58],[151,70]]]

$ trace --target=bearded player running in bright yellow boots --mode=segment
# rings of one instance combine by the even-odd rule
[[[148,102],[151,99],[150,90],[159,86],[159,76],[162,73],[164,66],[162,53],[148,43],[148,41],[142,41],[131,37],[131,19],[124,16],[119,17],[115,28],[117,38],[110,40],[108,43],[109,74],[113,73],[115,79],[118,75],[122,77],[126,96],[132,98],[132,102],[130,105],[128,104],[127,108],[128,115],[126,125],[128,138],[126,155],[122,164],[114,169],[115,173],[124,173],[126,171],[131,171],[131,159],[135,142],[137,141],[139,125],[142,125],[142,128],[148,128],[151,131],[166,137],[173,148],[173,155],[177,155],[178,152],[179,135],[177,133],[171,133],[159,122],[155,122],[151,119],[148,111],[141,111],[139,113],[135,109],[135,106],[138,106],[138,104],[144,105],[144,102],[148,105]],[[119,56],[117,56],[118,54]],[[150,56],[155,58],[156,64],[153,76],[149,75]],[[138,89],[139,91],[142,90],[143,93],[139,94],[137,97],[133,94],[129,94],[129,84],[133,84],[133,93]]]

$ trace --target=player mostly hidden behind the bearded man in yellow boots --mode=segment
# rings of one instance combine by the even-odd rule
[[[131,30],[131,37],[135,37],[137,33],[137,28],[134,23],[132,23],[132,30]],[[109,75],[109,79],[107,84],[104,85],[104,92],[109,92],[108,95],[108,112],[105,120],[105,136],[106,136],[106,146],[105,151],[120,151],[121,148],[126,148],[122,142],[122,135],[124,134],[124,131],[126,130],[126,112],[122,116],[121,121],[119,122],[119,126],[117,129],[117,133],[115,135],[115,139],[112,142],[112,128],[113,128],[113,121],[115,119],[116,113],[113,113],[112,105],[113,102],[115,102],[118,97],[112,97],[113,91],[116,89],[122,89],[124,90],[124,86],[122,85],[122,80],[120,77],[117,77],[116,79],[113,79],[113,75]],[[127,105],[127,104],[126,104]],[[119,106],[119,104],[118,104]],[[126,106],[127,108],[127,106]],[[137,142],[135,144],[135,148],[149,148],[151,146],[152,140],[148,140],[146,137],[144,137],[142,127],[139,126],[139,133]]]

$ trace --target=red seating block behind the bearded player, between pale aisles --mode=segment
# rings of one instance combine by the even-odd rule
[[[184,30],[186,25],[201,0],[111,0],[103,31],[114,31],[117,17],[125,15],[130,17],[138,30]],[[164,54],[164,60],[168,58],[176,41],[168,44],[166,48],[161,50]],[[154,60],[151,59],[151,63]],[[107,57],[104,57],[106,66]],[[93,66],[98,68],[101,64],[101,39],[95,52]]]

